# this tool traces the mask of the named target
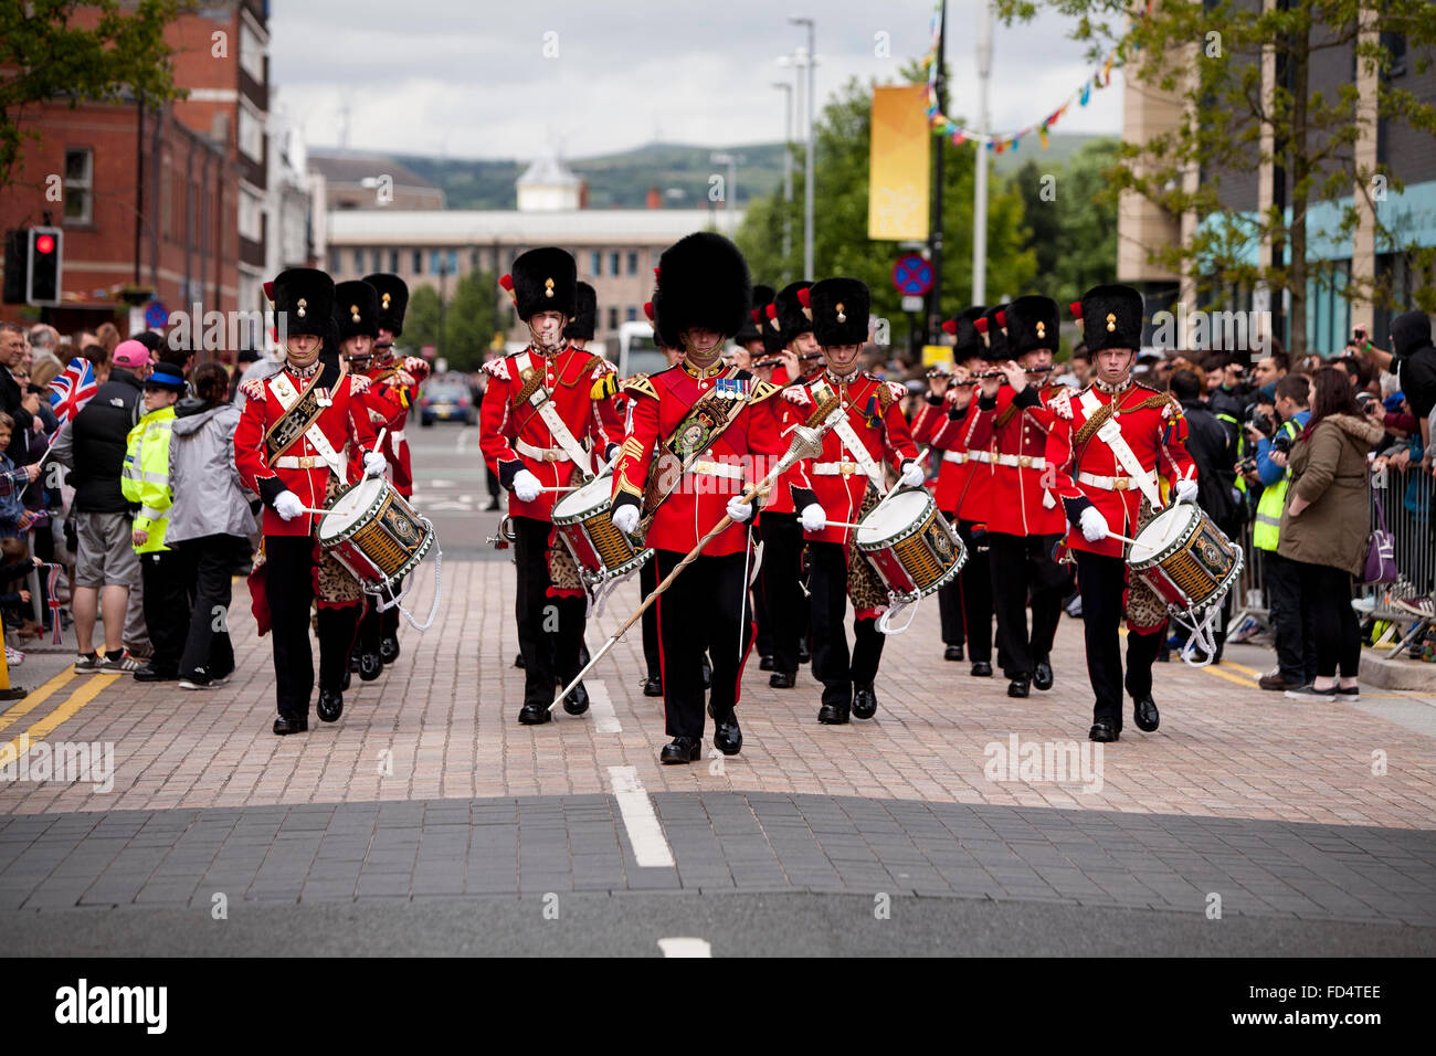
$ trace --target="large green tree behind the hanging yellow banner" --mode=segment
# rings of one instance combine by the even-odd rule
[[[912,79],[915,70],[906,70]],[[813,260],[817,274],[803,270],[803,181],[794,181],[794,200],[781,193],[755,200],[738,230],[738,247],[748,259],[754,282],[781,286],[798,277],[850,276],[867,283],[873,315],[895,320],[893,343],[906,330],[902,297],[892,284],[892,266],[899,256],[896,243],[867,237],[869,152],[872,142],[872,85],[850,80],[823,108],[814,128]],[[974,147],[943,142],[943,256],[942,292],[945,316],[954,315],[972,297],[972,182]],[[803,171],[801,149],[794,148],[794,171]],[[1001,295],[1027,292],[1037,274],[1035,256],[1027,249],[1022,197],[997,178],[988,184],[988,289]],[[783,224],[791,224],[791,251],[783,256]],[[902,329],[896,325],[902,320]]]

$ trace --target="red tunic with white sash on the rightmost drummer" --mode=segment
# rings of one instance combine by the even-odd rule
[[[1086,404],[1090,404],[1090,409]],[[1097,414],[1107,404],[1116,404],[1116,421],[1122,427],[1122,438],[1142,468],[1160,477],[1159,487],[1162,481],[1173,488],[1178,480],[1196,480],[1196,464],[1186,453],[1186,418],[1182,417],[1182,405],[1166,392],[1132,382],[1113,395],[1088,385],[1076,397],[1064,398],[1058,394],[1051,401],[1047,464],[1053,467],[1053,490],[1067,506],[1068,520],[1076,524],[1083,507],[1091,504],[1107,519],[1107,527],[1113,532],[1136,536],[1142,490],[1130,483],[1127,470],[1100,437],[1090,435],[1081,443],[1077,441],[1077,434],[1088,415]],[[1129,483],[1120,488],[1100,487],[1078,480],[1080,473],[1120,477]],[[1067,533],[1067,545],[1074,550],[1088,550],[1110,557],[1122,557],[1124,553],[1124,543],[1116,539],[1088,543],[1078,527]]]

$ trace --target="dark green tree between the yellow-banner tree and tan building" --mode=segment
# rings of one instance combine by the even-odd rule
[[[1058,305],[1117,280],[1117,203],[1104,190],[1119,147],[1116,139],[1097,139],[1061,165],[1030,158],[1012,177],[1041,292]]]

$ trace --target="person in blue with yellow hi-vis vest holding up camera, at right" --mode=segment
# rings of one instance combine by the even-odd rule
[[[1264,690],[1295,690],[1315,675],[1311,628],[1301,608],[1301,576],[1295,562],[1277,552],[1281,511],[1291,474],[1287,460],[1291,445],[1311,418],[1311,382],[1304,374],[1288,374],[1277,382],[1275,415],[1254,409],[1246,437],[1256,448],[1252,468],[1261,483],[1252,546],[1262,550],[1267,608],[1277,636],[1277,667],[1261,677]],[[1251,477],[1248,477],[1251,480]]]

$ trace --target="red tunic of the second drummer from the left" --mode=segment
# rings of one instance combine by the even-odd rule
[[[612,374],[612,363],[603,356],[576,349],[572,345],[551,356],[543,356],[533,348],[516,352],[503,359],[484,363],[488,372],[488,386],[478,414],[478,445],[484,461],[498,470],[505,486],[511,474],[520,468],[528,470],[544,487],[566,487],[573,477],[573,461],[561,454],[547,422],[531,404],[516,405],[524,379],[520,378],[520,358],[528,356],[528,369],[544,372],[544,388],[553,401],[563,424],[579,444],[592,438],[599,458],[605,448],[615,443],[600,414],[600,404],[607,398],[595,399],[593,382]],[[530,454],[547,451],[549,454]],[[597,466],[584,466],[595,470]],[[553,520],[553,507],[566,493],[541,491],[531,503],[508,496],[508,513],[534,520]]]

